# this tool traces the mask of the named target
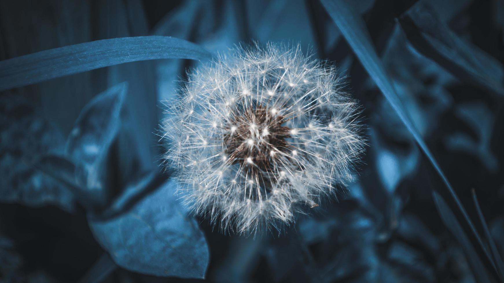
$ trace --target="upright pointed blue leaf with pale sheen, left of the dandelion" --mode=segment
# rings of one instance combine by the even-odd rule
[[[110,178],[106,166],[121,123],[128,84],[120,83],[97,95],[82,110],[67,141],[67,155],[77,168],[78,185],[102,195]]]

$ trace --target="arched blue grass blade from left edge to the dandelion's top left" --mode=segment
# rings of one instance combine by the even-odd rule
[[[197,44],[168,36],[97,40],[0,61],[0,91],[127,62],[210,56]]]

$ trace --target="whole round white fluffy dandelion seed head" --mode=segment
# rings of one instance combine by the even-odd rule
[[[186,203],[237,233],[280,227],[351,180],[358,105],[298,48],[236,48],[188,76],[163,124]]]

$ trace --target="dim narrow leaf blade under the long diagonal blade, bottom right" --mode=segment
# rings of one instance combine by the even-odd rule
[[[434,198],[434,203],[441,219],[464,249],[467,261],[473,269],[474,276],[478,279],[478,282],[491,282],[485,266],[483,266],[479,260],[478,254],[474,250],[471,241],[464,232],[464,229],[460,226],[455,214],[453,214],[452,210],[439,193],[432,191],[432,197]]]

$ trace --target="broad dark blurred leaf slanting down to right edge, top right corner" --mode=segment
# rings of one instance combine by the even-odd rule
[[[419,1],[412,6],[400,23],[408,40],[423,55],[463,81],[504,95],[502,65],[460,39],[426,3]]]

